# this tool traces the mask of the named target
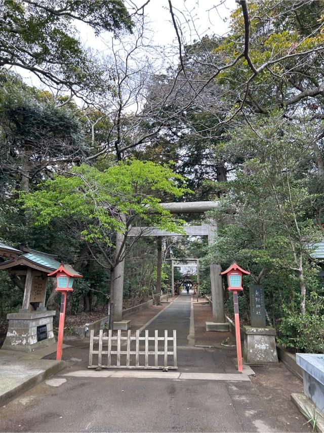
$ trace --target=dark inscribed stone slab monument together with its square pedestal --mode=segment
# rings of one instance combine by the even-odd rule
[[[244,326],[243,357],[247,364],[277,364],[275,329],[266,326],[264,288],[250,286],[251,326]]]

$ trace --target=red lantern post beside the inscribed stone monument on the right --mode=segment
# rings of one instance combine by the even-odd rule
[[[221,272],[221,275],[227,276],[228,289],[233,292],[234,315],[235,315],[235,335],[236,335],[236,352],[237,352],[237,370],[242,372],[242,350],[241,336],[239,331],[239,315],[238,315],[238,299],[237,292],[243,290],[242,275],[249,275],[250,272],[240,268],[236,263],[233,263],[226,271]]]

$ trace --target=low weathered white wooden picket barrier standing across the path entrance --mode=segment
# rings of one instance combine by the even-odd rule
[[[123,340],[123,343],[121,341]],[[145,342],[144,350],[140,350],[141,342]],[[149,342],[154,341],[154,350],[149,350]],[[163,347],[159,348],[159,341]],[[168,342],[172,341],[172,350],[168,347]],[[94,350],[95,343],[98,342],[98,350]],[[113,343],[117,344],[113,344]],[[133,342],[133,344],[132,344]],[[126,346],[126,350],[122,350],[122,345]],[[135,350],[132,345],[134,346]],[[103,350],[103,345],[107,346],[107,350]],[[115,347],[117,345],[117,347]],[[161,350],[162,349],[162,350]],[[94,362],[94,356],[98,355],[97,362]],[[107,355],[103,360],[103,355]],[[116,357],[112,356],[116,355]],[[124,356],[123,356],[124,355]],[[126,355],[126,359],[125,359]],[[135,359],[131,359],[131,355],[135,355]],[[151,356],[150,356],[151,355]],[[154,355],[154,358],[153,356]],[[161,355],[161,356],[159,356]],[[168,355],[173,356],[173,365],[168,365]],[[159,359],[163,359],[160,362]],[[154,359],[154,362],[152,362]],[[151,362],[151,363],[150,363]],[[151,365],[150,365],[151,364]],[[90,332],[90,351],[89,351],[89,367],[90,369],[146,369],[146,370],[178,370],[177,366],[177,331],[173,330],[173,337],[168,337],[168,330],[164,331],[164,336],[159,337],[158,331],[155,330],[154,337],[148,336],[148,330],[145,330],[145,337],[140,337],[139,330],[136,331],[134,337],[131,336],[131,330],[128,330],[127,337],[121,336],[121,331],[117,331],[117,336],[113,336],[111,330],[108,331],[108,336],[103,336],[103,330],[99,331],[99,337],[94,337],[94,331]]]

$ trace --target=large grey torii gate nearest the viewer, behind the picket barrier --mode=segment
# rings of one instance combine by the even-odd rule
[[[164,209],[171,213],[204,213],[213,210],[218,206],[216,201],[196,201],[196,202],[175,202],[161,203]],[[210,224],[200,226],[184,226],[186,236],[208,236],[208,244],[212,244],[217,234],[217,222],[211,220]],[[128,236],[185,236],[181,233],[159,230],[155,227],[133,227]],[[114,321],[122,320],[123,316],[123,289],[124,289],[124,267],[125,261],[120,262],[115,268],[114,281]],[[225,321],[223,283],[220,275],[221,266],[216,263],[210,265],[211,289],[213,300],[213,330],[228,331],[229,326]]]

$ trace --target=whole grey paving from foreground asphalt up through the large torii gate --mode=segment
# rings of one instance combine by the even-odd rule
[[[177,329],[178,372],[165,373],[165,379],[162,372],[148,372],[152,376],[146,378],[135,372],[132,377],[130,371],[80,369],[80,363],[2,408],[0,431],[296,431],[286,429],[271,414],[250,380],[234,381],[232,375],[226,381],[223,376],[221,380],[186,376],[194,372],[239,375],[222,349],[192,346],[190,313],[191,296],[185,293],[147,327]]]

